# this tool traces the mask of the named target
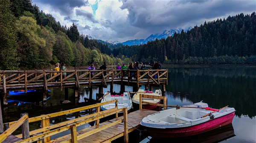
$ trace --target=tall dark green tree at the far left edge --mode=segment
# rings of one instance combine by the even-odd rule
[[[17,34],[9,0],[0,0],[0,69],[17,70]]]

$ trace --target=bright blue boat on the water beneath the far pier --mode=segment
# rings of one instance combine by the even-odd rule
[[[47,91],[48,93],[52,92],[51,90]],[[33,96],[38,96],[38,95],[43,95],[44,90],[27,90],[27,93],[25,91],[9,91],[8,96],[28,96],[28,95],[33,95]]]

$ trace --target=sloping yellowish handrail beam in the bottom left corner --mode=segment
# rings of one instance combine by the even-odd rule
[[[28,120],[29,116],[28,115],[23,115],[17,122],[12,124],[11,127],[9,127],[6,131],[4,131],[0,135],[0,143],[3,142],[9,135],[11,135],[16,129],[18,129],[23,123],[25,123]]]

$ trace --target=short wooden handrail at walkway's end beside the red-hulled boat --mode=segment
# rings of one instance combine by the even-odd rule
[[[163,104],[145,102],[145,101],[143,101],[143,98],[160,99],[160,100],[163,100]],[[167,109],[167,106],[166,106],[167,105],[167,97],[166,96],[140,94],[140,109],[142,109],[142,104],[160,106],[160,107],[163,107],[164,110],[166,110]]]

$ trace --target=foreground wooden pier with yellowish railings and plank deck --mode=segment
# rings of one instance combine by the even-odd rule
[[[166,109],[166,96],[144,96],[140,95],[140,104],[145,103],[142,101],[143,97],[147,98],[160,98],[163,99],[164,104],[157,104],[158,106],[164,107]],[[99,107],[104,104],[115,103],[116,107],[108,109],[105,111],[100,111]],[[118,109],[117,99],[112,101],[107,101],[104,103],[93,104],[86,107],[80,107],[76,109],[70,109],[62,112],[52,113],[48,115],[41,115],[38,117],[28,118],[27,114],[21,115],[18,121],[5,123],[5,126],[9,128],[0,135],[0,143],[8,143],[9,135],[12,134],[19,126],[22,126],[22,135],[16,135],[20,140],[15,141],[15,143],[111,143],[119,137],[124,136],[124,143],[128,143],[128,133],[140,128],[140,121],[147,115],[151,115],[157,111],[151,111],[146,109],[141,109],[131,112],[128,114],[127,108]],[[142,107],[140,105],[140,107]],[[69,121],[64,121],[61,123],[56,123],[50,125],[49,119],[65,115],[68,113],[79,112],[86,109],[96,108],[96,113],[86,115],[83,117],[75,118]],[[118,117],[118,113],[123,111],[123,116]],[[116,115],[116,118],[106,121],[104,123],[99,123],[99,119],[105,118],[110,115]],[[41,121],[41,128],[30,131],[29,123]],[[84,125],[95,121],[95,126],[82,129],[77,131],[76,127]],[[52,135],[67,131],[70,129],[70,134],[63,137],[58,137],[57,139],[51,140]],[[41,134],[39,134],[41,133]],[[21,140],[22,138],[22,140]]]

